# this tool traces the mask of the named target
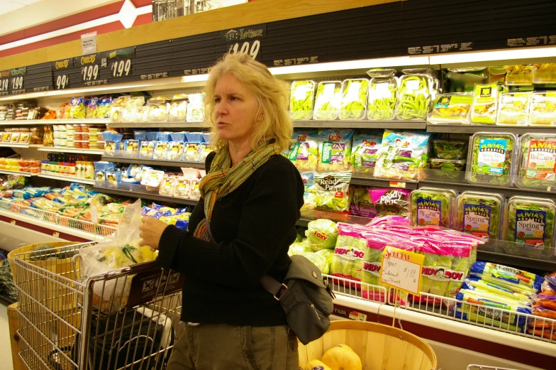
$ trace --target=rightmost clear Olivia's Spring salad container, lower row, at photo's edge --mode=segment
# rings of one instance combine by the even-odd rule
[[[516,246],[535,248],[540,254],[548,254],[554,241],[555,214],[556,204],[552,200],[511,197],[504,209],[504,239]]]

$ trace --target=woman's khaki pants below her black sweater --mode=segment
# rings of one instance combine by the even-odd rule
[[[289,327],[187,325],[167,370],[298,370],[297,338]]]

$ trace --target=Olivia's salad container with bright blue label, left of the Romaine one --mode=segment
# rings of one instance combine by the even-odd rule
[[[511,185],[516,136],[503,132],[477,132],[469,138],[469,183]]]

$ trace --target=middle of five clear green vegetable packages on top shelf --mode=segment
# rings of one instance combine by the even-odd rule
[[[366,78],[344,80],[342,82],[342,101],[340,119],[365,119],[369,80]]]

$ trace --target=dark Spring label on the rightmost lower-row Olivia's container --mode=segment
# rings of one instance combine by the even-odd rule
[[[546,212],[516,210],[516,244],[526,247],[544,246]]]

